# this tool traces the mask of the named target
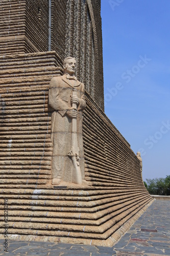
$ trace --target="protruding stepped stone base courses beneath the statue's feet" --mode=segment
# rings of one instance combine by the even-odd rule
[[[2,194],[8,199],[10,234],[68,237],[70,232],[70,238],[100,240],[152,200],[142,190],[3,189]]]

